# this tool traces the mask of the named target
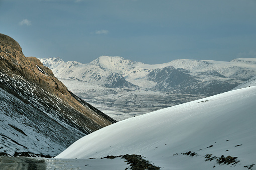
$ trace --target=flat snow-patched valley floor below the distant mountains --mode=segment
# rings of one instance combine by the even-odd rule
[[[77,79],[59,80],[81,99],[117,121],[204,97],[151,89],[108,88]]]

